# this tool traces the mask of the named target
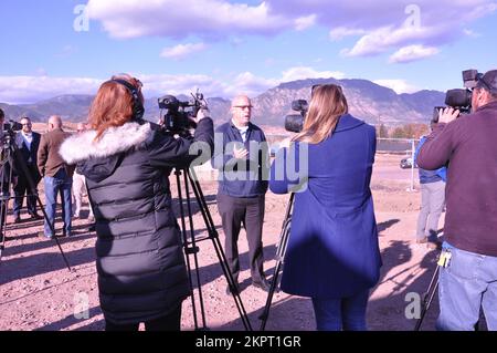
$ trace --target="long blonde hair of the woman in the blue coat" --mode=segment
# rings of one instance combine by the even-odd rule
[[[293,141],[319,144],[335,132],[341,115],[349,112],[341,87],[325,84],[314,87],[303,131]]]

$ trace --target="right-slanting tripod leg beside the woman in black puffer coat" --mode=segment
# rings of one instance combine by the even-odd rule
[[[226,256],[221,246],[221,241],[219,240],[219,233],[218,230],[215,230],[214,221],[212,220],[212,216],[209,211],[209,206],[207,205],[205,197],[203,196],[202,189],[200,187],[200,183],[197,179],[197,175],[193,169],[190,168],[186,170],[186,173],[188,173],[188,177],[192,186],[193,193],[195,195],[197,203],[199,204],[200,211],[205,222],[205,228],[208,229],[209,232],[209,239],[211,239],[213,242],[215,253],[221,264],[221,269],[224,273],[224,277],[226,278],[228,285],[231,288],[231,293],[233,294],[233,299],[235,301],[236,309],[239,310],[240,318],[242,319],[245,330],[252,331],[252,325],[248,315],[245,311],[245,308],[243,305],[242,298],[240,297],[240,293],[235,290],[236,288],[235,281],[228,266]]]

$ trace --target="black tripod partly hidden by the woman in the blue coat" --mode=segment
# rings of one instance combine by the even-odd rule
[[[276,266],[274,268],[273,280],[271,281],[269,292],[267,294],[266,305],[263,313],[260,315],[261,328],[260,331],[266,329],[267,319],[269,318],[271,303],[273,301],[274,292],[278,285],[278,277],[285,260],[286,247],[288,246],[288,237],[292,228],[292,211],[294,208],[295,194],[290,195],[288,205],[286,206],[285,219],[283,220],[282,232],[279,233],[279,242],[276,250]]]

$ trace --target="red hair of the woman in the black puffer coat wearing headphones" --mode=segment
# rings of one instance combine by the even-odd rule
[[[135,86],[140,92],[141,102],[144,101],[141,84],[137,79],[123,74],[113,76],[112,80],[117,79]],[[99,139],[107,128],[123,126],[129,122],[133,117],[133,103],[131,93],[124,85],[113,81],[102,84],[92,103],[88,117],[92,128],[97,132],[95,141]]]

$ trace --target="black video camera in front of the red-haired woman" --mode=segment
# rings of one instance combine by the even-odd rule
[[[188,102],[181,102],[173,95],[159,98],[160,121],[167,132],[181,135],[197,128],[197,123],[192,118],[207,106],[207,102],[199,91],[191,96],[192,98]]]

